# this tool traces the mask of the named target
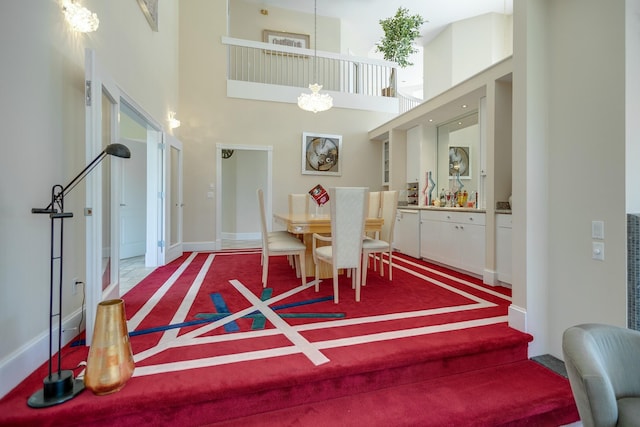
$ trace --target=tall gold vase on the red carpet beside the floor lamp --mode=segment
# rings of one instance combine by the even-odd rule
[[[99,303],[84,374],[85,386],[97,395],[114,393],[131,378],[134,367],[124,301]]]

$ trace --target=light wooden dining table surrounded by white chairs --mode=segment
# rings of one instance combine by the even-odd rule
[[[305,258],[306,274],[307,277],[315,276],[315,263],[313,262],[313,233],[318,234],[331,234],[331,216],[328,214],[289,214],[289,213],[276,213],[273,215],[275,221],[278,224],[282,224],[286,227],[287,231],[291,234],[300,235],[302,241],[307,246],[307,253]],[[382,218],[366,218],[364,231],[376,232],[382,229],[384,220]],[[317,242],[318,245],[326,244],[326,242]],[[320,266],[320,277],[323,279],[332,277],[331,267],[328,264],[322,263]]]

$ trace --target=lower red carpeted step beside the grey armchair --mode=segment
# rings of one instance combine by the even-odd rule
[[[566,379],[519,361],[210,426],[559,426],[577,420]]]

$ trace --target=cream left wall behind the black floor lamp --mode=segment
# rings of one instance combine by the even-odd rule
[[[158,33],[135,1],[82,4],[99,16],[95,33],[70,31],[53,0],[2,4],[0,396],[48,357],[49,220],[31,208],[45,207],[51,186],[66,184],[85,165],[85,47],[157,121],[177,104],[177,1],[160,0]],[[73,277],[84,278],[83,186],[65,202],[75,217],[65,222],[63,317],[76,315],[75,322],[82,298],[70,288]]]

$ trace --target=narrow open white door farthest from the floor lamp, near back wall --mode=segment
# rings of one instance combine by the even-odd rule
[[[182,142],[173,135],[165,134],[168,152],[165,156],[165,193],[167,195],[164,209],[165,234],[167,243],[165,263],[182,256]]]

